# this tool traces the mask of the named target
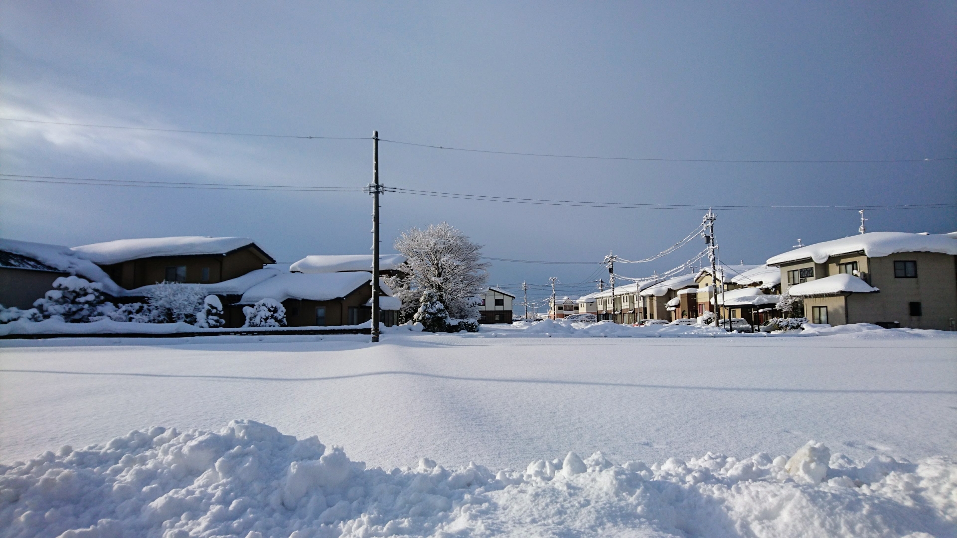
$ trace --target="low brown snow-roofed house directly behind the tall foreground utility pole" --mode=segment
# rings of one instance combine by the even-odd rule
[[[289,326],[360,325],[372,317],[372,274],[365,271],[336,273],[280,273],[246,290],[226,308],[230,320],[245,320],[243,306],[275,299],[286,309]],[[380,282],[380,322],[395,325],[402,303],[389,296]],[[233,322],[235,323],[235,322]]]

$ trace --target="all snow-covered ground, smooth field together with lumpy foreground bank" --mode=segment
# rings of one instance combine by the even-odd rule
[[[957,536],[951,334],[484,328],[0,343],[0,536]]]

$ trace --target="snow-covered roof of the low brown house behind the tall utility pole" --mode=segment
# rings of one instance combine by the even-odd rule
[[[242,295],[239,303],[251,304],[262,299],[306,299],[331,301],[345,297],[350,292],[372,279],[371,273],[350,271],[346,273],[279,273],[251,287]]]

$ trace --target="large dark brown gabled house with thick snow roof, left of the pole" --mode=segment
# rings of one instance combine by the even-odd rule
[[[156,282],[216,283],[262,269],[276,260],[249,237],[147,237],[74,247],[123,289]]]

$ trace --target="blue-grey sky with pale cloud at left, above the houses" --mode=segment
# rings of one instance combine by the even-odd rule
[[[0,2],[0,173],[387,187],[589,202],[714,205],[726,263],[857,233],[861,206],[957,200],[953,2]],[[930,161],[922,161],[931,159]],[[950,159],[950,160],[934,160]],[[0,176],[4,177],[4,176]],[[242,235],[280,261],[361,254],[361,191],[93,187],[0,181],[0,235],[76,246]],[[24,178],[19,178],[24,179]],[[701,210],[489,202],[389,192],[383,252],[448,221],[492,258],[648,258]],[[869,211],[869,231],[957,230],[950,208]],[[678,252],[615,272],[644,277]],[[598,264],[493,260],[515,290],[580,295]],[[619,283],[621,280],[619,280]],[[550,293],[550,290],[548,291]],[[521,294],[520,298],[521,298]],[[532,298],[545,296],[533,288]]]

